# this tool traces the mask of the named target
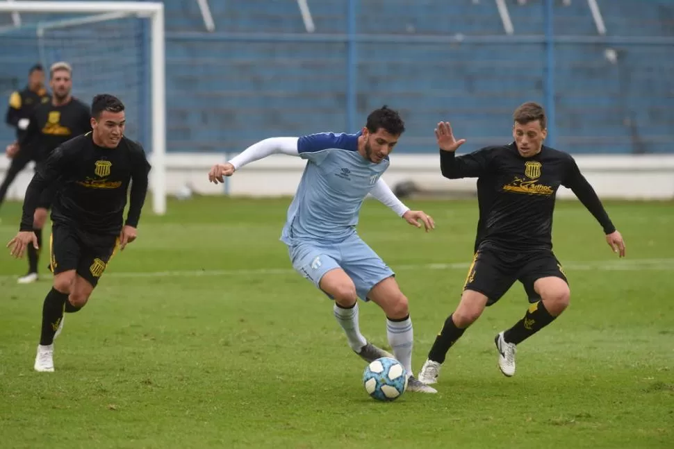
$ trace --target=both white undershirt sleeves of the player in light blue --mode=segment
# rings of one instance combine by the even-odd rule
[[[272,154],[287,154],[290,156],[299,156],[297,151],[297,137],[270,137],[261,140],[256,144],[252,144],[247,149],[229,160],[229,163],[234,166],[235,170],[244,167],[245,165],[261,160]],[[379,178],[375,186],[370,190],[370,195],[377,199],[380,203],[391,208],[398,217],[402,217],[409,207],[404,205],[400,199],[393,194],[386,182]]]

